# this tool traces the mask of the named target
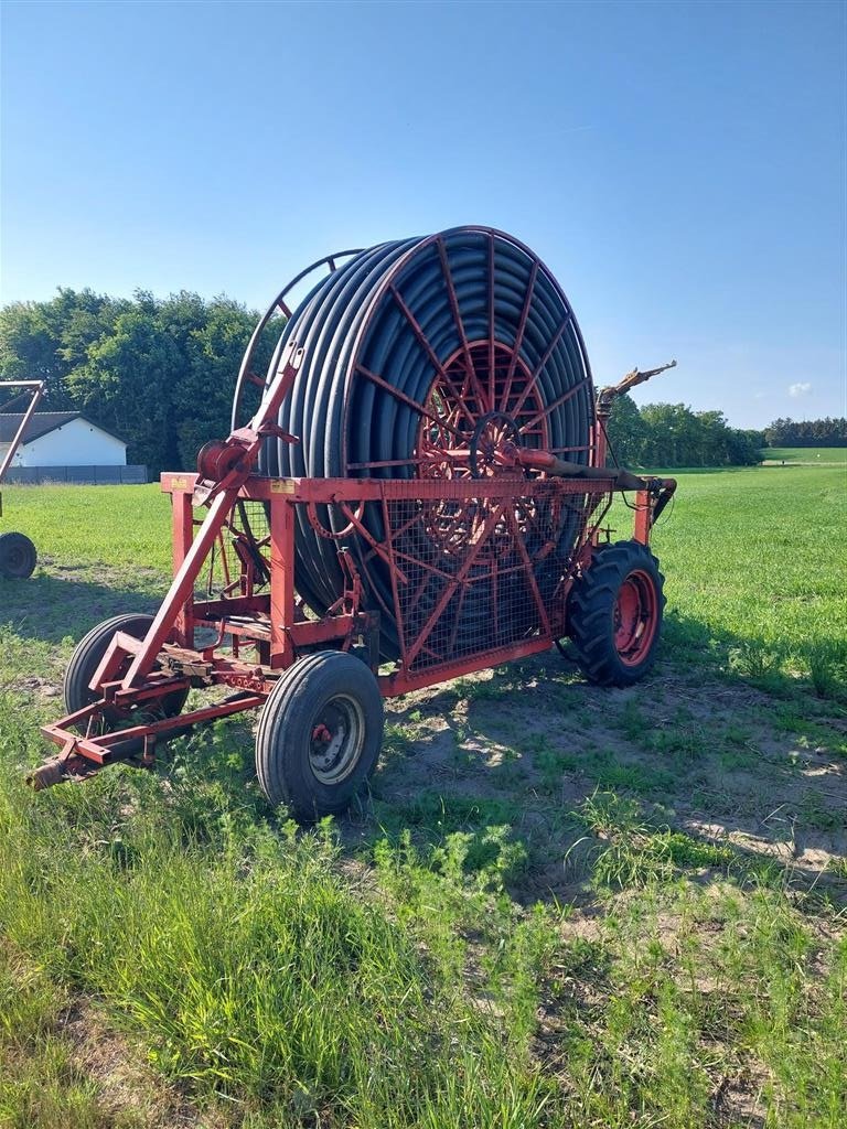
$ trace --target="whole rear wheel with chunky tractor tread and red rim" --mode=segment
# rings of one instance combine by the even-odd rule
[[[630,686],[656,658],[665,606],[658,561],[637,541],[595,552],[570,590],[568,627],[591,682]]]

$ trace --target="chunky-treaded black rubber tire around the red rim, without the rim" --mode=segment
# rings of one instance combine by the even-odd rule
[[[627,577],[645,574],[655,589],[655,630],[649,648],[638,664],[621,660],[614,642],[614,609]],[[576,580],[568,596],[568,629],[577,662],[590,682],[601,686],[631,686],[656,660],[665,606],[664,577],[658,560],[638,541],[601,545]]]

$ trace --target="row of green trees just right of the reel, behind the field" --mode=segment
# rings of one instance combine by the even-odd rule
[[[693,412],[686,404],[614,402],[609,441],[628,466],[753,466],[765,446],[761,431],[741,431],[723,412]]]

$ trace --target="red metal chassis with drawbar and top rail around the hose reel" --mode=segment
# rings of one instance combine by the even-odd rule
[[[445,499],[463,501],[479,498],[481,489],[491,506],[489,523],[496,524],[507,513],[516,496],[532,498],[543,485],[545,495],[558,499],[591,496],[593,519],[585,528],[585,536],[574,557],[574,567],[562,578],[553,599],[544,605],[535,587],[532,598],[538,605],[538,629],[530,638],[506,646],[433,663],[416,668],[414,659],[426,646],[425,628],[416,639],[403,639],[401,657],[390,673],[378,675],[385,697],[469,674],[488,666],[536,654],[550,648],[567,632],[566,597],[578,568],[587,562],[592,545],[600,536],[600,524],[614,489],[614,479],[496,478],[486,480],[375,480],[375,479],[263,479],[250,478],[232,493],[221,491],[213,500],[209,515],[199,527],[193,517],[194,491],[199,478],[186,474],[163,474],[161,488],[173,501],[173,545],[175,578],[156,620],[143,640],[117,633],[91,680],[103,698],[85,710],[62,718],[43,728],[45,736],[61,746],[60,759],[66,763],[66,774],[87,776],[96,767],[108,764],[125,755],[137,756],[138,749],[124,754],[122,750],[134,741],[143,742],[143,754],[149,758],[157,737],[178,733],[200,721],[226,717],[264,702],[273,689],[279,673],[291,665],[298,655],[317,645],[349,649],[353,644],[368,644],[374,630],[373,613],[361,606],[361,590],[351,586],[340,606],[331,609],[321,619],[309,619],[297,599],[294,584],[295,508],[297,506],[337,506],[348,514],[351,524],[359,525],[358,509],[363,502],[386,506],[396,501],[443,502]],[[636,533],[639,540],[648,537],[652,514],[656,502],[671,489],[667,480],[647,480],[646,489],[636,493]],[[194,583],[199,564],[208,557],[212,542],[226,528],[224,519],[232,511],[233,495],[236,499],[267,504],[270,515],[270,585],[256,592],[245,567],[244,586],[237,593],[217,599],[197,598]],[[197,531],[197,533],[195,533]],[[195,533],[195,535],[193,535]],[[519,537],[516,539],[519,541]],[[646,541],[645,541],[646,543]],[[386,552],[392,554],[388,539]],[[393,575],[402,572],[402,561],[391,557]],[[527,570],[531,576],[531,570]],[[355,567],[353,567],[355,576]],[[456,584],[461,583],[457,576]],[[442,596],[428,623],[437,621],[448,596]],[[396,601],[396,587],[395,587]],[[395,614],[399,604],[395,604]],[[401,624],[400,615],[398,620]],[[215,642],[195,648],[194,638],[200,631],[215,632]],[[431,628],[430,628],[431,630]],[[220,646],[225,637],[234,640],[235,651],[228,654]],[[237,641],[236,641],[237,640]],[[253,655],[244,655],[244,651]],[[239,692],[236,700],[182,714],[175,718],[145,721],[129,728],[115,728],[99,734],[103,707],[108,706],[119,715],[131,717],[140,703],[161,699],[165,694],[187,686],[229,686]],[[89,725],[89,723],[95,723]],[[75,732],[81,729],[82,732]],[[54,769],[54,765],[53,765]],[[47,773],[49,774],[49,773]]]

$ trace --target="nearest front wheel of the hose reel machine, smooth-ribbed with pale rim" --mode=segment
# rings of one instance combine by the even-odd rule
[[[383,700],[373,672],[344,651],[298,659],[268,697],[256,774],[269,802],[308,823],[343,812],[373,772]]]

